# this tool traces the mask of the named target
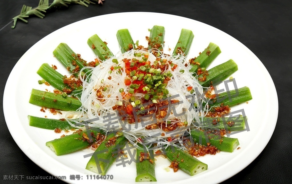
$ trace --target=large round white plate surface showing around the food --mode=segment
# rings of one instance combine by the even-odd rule
[[[69,74],[53,56],[53,50],[58,44],[67,43],[73,51],[81,54],[81,57],[89,62],[95,59],[95,55],[87,45],[87,39],[92,35],[99,35],[115,54],[119,51],[117,30],[128,28],[134,42],[139,40],[139,44],[147,46],[145,36],[149,35],[148,29],[153,25],[165,27],[165,50],[169,48],[170,53],[175,47],[180,30],[182,28],[192,30],[194,40],[188,59],[197,56],[209,42],[217,44],[222,53],[208,68],[233,59],[238,65],[238,71],[232,74],[236,79],[237,87],[248,86],[253,97],[248,104],[231,108],[231,111],[244,109],[248,117],[249,131],[231,135],[239,139],[241,149],[236,149],[233,153],[220,152],[216,155],[199,157],[199,160],[208,164],[208,170],[195,176],[189,176],[181,170],[176,173],[172,170],[166,172],[164,168],[168,167],[170,162],[159,156],[155,166],[157,183],[189,181],[219,183],[244,169],[263,151],[277,122],[278,99],[272,78],[260,60],[230,35],[196,20],[161,13],[131,12],[97,16],[67,25],[41,39],[16,63],[4,91],[4,115],[13,139],[32,161],[54,176],[66,176],[65,181],[68,183],[85,182],[86,175],[89,175],[89,180],[90,175],[96,175],[85,169],[90,157],[84,158],[84,155],[93,152],[91,149],[56,156],[45,143],[59,138],[63,132],[58,134],[53,130],[31,127],[28,124],[27,115],[60,118],[59,115],[54,116],[48,111],[41,112],[39,106],[29,104],[32,88],[53,91],[51,86],[39,85],[37,82],[41,77],[36,71],[42,63],[54,64],[58,67],[57,71],[63,75]],[[226,88],[221,84],[218,89]],[[126,164],[126,167],[116,166],[114,163],[107,174],[113,175],[113,179],[98,181],[135,183],[135,162]],[[80,175],[81,179],[69,180],[70,175]]]

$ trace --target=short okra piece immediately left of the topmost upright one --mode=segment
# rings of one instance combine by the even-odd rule
[[[121,29],[117,31],[117,39],[121,46],[122,53],[135,49],[135,44],[128,29]]]

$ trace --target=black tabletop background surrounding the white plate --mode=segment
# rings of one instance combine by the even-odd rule
[[[38,5],[38,0],[0,1],[0,28],[20,13],[23,4],[35,7]],[[3,102],[4,87],[13,66],[40,39],[65,25],[85,18],[130,11],[168,13],[198,20],[226,32],[256,54],[269,71],[277,89],[279,98],[277,125],[263,152],[244,170],[223,183],[291,183],[292,3],[290,0],[274,2],[105,0],[102,6],[96,4],[86,8],[81,5],[71,5],[69,8],[53,8],[46,13],[44,19],[32,17],[28,19],[28,24],[18,21],[15,29],[10,28],[13,25],[10,23],[0,31],[2,70],[0,101]],[[258,74],[249,75],[254,75],[256,80]],[[268,93],[268,90],[263,89],[263,93]],[[261,104],[258,106],[261,108]],[[34,164],[18,148],[8,131],[2,108],[1,106],[0,183],[43,183],[43,180],[3,180],[3,175],[51,176],[51,174]],[[222,174],[225,172],[228,171],[223,171]],[[63,183],[60,180],[57,182]]]

